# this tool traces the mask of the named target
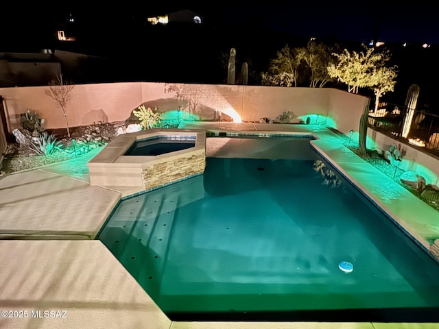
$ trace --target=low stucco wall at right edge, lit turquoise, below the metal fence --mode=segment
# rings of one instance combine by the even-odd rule
[[[396,145],[401,153],[402,161],[399,168],[404,171],[414,171],[418,175],[423,176],[427,184],[439,185],[439,159],[430,156],[415,147],[400,143],[394,138],[381,134],[376,130],[368,128],[368,149],[389,149],[390,145]]]

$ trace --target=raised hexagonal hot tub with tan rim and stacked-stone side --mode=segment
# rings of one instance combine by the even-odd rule
[[[150,190],[204,172],[206,132],[156,128],[122,134],[87,166],[92,186]]]

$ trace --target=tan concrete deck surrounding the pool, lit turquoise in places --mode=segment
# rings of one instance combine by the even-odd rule
[[[318,151],[362,186],[420,245],[428,249],[429,241],[439,236],[436,210],[343,147],[340,137],[322,126],[187,123],[185,128],[312,133],[319,138],[312,142]],[[72,173],[73,167],[99,151],[0,178],[0,236],[5,239],[0,241],[0,310],[23,315],[14,318],[20,313],[10,312],[12,317],[0,318],[0,328],[439,328],[439,324],[169,320],[108,249],[93,241],[119,199],[139,192],[90,186],[84,169]],[[45,317],[44,310],[66,310],[67,317],[56,313]]]

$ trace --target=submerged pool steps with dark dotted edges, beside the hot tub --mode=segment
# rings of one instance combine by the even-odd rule
[[[180,197],[152,193],[125,200],[99,234],[108,249],[148,290],[161,282],[169,236]],[[145,288],[146,289],[146,288]]]

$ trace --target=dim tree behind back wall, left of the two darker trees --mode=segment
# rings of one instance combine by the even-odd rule
[[[296,87],[299,79],[300,58],[294,49],[285,45],[277,51],[276,58],[270,60],[268,72],[262,73],[265,86]]]

